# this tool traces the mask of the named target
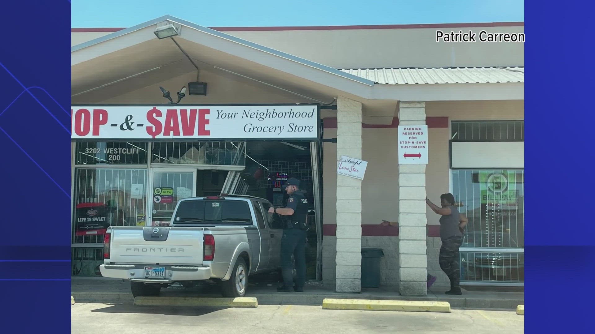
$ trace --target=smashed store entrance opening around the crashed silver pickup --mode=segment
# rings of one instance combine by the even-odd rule
[[[218,196],[222,193],[248,195],[265,198],[274,206],[286,206],[289,196],[284,191],[283,184],[288,178],[297,178],[301,181],[300,190],[305,193],[310,203],[306,279],[317,279],[321,222],[317,221],[315,201],[321,198],[321,194],[315,196],[314,181],[316,177],[320,177],[315,175],[320,168],[316,168],[313,174],[311,143],[250,141],[246,143],[245,152],[246,163],[242,171],[154,169],[151,172],[154,191],[174,194],[153,194],[153,225],[168,224],[177,200],[190,197],[191,193],[192,196],[198,197]],[[317,161],[320,159],[315,160],[315,163],[318,163]],[[181,194],[181,191],[184,193]]]

